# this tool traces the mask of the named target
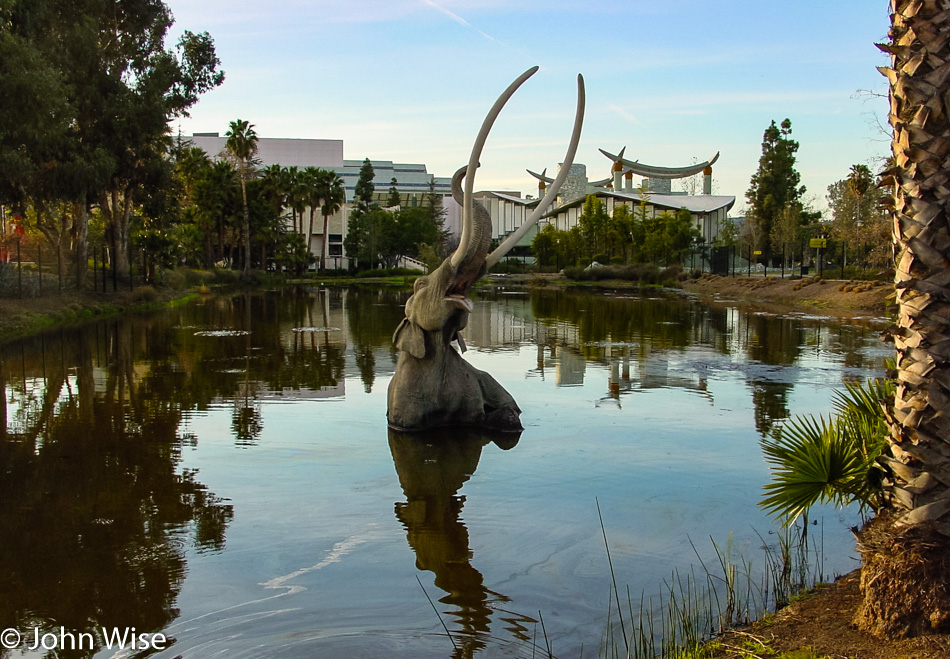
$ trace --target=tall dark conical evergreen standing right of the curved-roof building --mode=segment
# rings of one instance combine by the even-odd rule
[[[748,217],[757,224],[755,249],[768,248],[767,243],[773,239],[772,229],[786,206],[801,208],[805,186],[799,185],[801,175],[795,169],[798,142],[791,134],[792,122],[785,119],[780,126],[773,120],[762,136],[759,169],[752,175],[746,192]],[[780,249],[780,245],[776,246]]]

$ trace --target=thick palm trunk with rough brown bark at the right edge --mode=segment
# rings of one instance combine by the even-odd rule
[[[860,537],[864,601],[856,621],[877,634],[950,628],[950,13],[945,3],[891,0],[894,166],[884,173],[898,249],[897,389],[885,416],[889,469],[882,515]]]

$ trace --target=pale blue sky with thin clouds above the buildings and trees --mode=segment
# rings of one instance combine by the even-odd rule
[[[344,158],[468,161],[497,96],[540,70],[488,138],[477,190],[537,194],[553,176],[584,76],[576,163],[610,175],[612,153],[679,167],[711,158],[714,193],[739,214],[772,120],[792,122],[812,206],[851,165],[880,168],[887,84],[886,0],[166,0],[182,30],[208,32],[224,84],[173,129],[343,140]],[[379,182],[377,182],[379,184]],[[388,184],[384,182],[384,184]],[[674,181],[674,189],[678,183]]]

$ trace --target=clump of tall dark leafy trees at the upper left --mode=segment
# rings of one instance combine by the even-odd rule
[[[168,122],[224,80],[207,33],[165,45],[161,0],[13,0],[0,8],[0,204],[84,285],[90,231],[129,271],[134,217],[175,212]]]

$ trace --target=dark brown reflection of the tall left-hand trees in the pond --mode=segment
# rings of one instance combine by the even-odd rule
[[[125,319],[0,353],[0,385],[36,396],[0,435],[5,625],[160,630],[178,614],[188,538],[224,545],[231,506],[178,471],[194,390],[144,373],[135,358],[156,343],[142,330]]]

